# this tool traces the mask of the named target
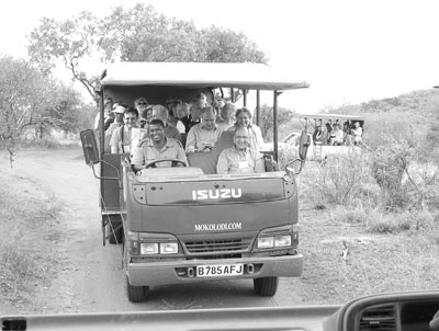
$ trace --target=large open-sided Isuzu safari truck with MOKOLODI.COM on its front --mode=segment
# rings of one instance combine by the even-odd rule
[[[122,62],[102,73],[101,100],[126,104],[138,96],[150,104],[188,102],[200,91],[209,101],[216,93],[234,101],[239,91],[246,105],[251,90],[258,124],[261,91],[273,100],[274,141],[264,156],[264,173],[216,173],[221,151],[233,146],[233,132],[224,133],[212,152],[189,155],[188,167],[155,168],[178,163],[155,160],[137,174],[130,155],[104,151],[103,133],[99,144],[92,130],[81,133],[87,164],[93,172],[99,164],[103,244],[106,239],[122,244],[131,301],[145,300],[151,286],[236,278],[252,279],[256,294],[273,296],[279,277],[302,274],[295,174],[308,138],[303,133],[301,158],[279,169],[277,115],[282,91],[307,87],[256,64]],[[103,102],[100,111],[103,122]]]

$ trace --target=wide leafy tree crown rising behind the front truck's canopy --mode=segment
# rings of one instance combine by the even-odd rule
[[[215,26],[198,30],[191,21],[168,18],[142,3],[127,10],[116,7],[103,19],[90,12],[65,21],[44,18],[30,35],[29,54],[45,70],[61,60],[95,100],[98,77],[80,70],[81,62],[92,57],[101,61],[267,62],[243,33]]]

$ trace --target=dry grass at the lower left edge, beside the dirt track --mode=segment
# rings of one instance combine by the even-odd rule
[[[25,179],[0,172],[0,294],[2,311],[16,312],[49,282],[60,206]]]

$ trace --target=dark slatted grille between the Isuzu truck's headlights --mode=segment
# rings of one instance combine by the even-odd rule
[[[250,238],[210,240],[210,241],[185,241],[184,246],[191,254],[198,253],[223,253],[247,251],[251,242]]]

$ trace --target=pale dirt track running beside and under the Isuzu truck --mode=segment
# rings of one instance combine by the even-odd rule
[[[254,294],[251,281],[209,282],[153,288],[147,303],[126,297],[120,246],[102,246],[98,180],[76,150],[22,151],[13,172],[61,204],[58,276],[38,288],[38,312],[93,312],[290,306],[302,304],[301,279],[282,279],[273,298]]]

